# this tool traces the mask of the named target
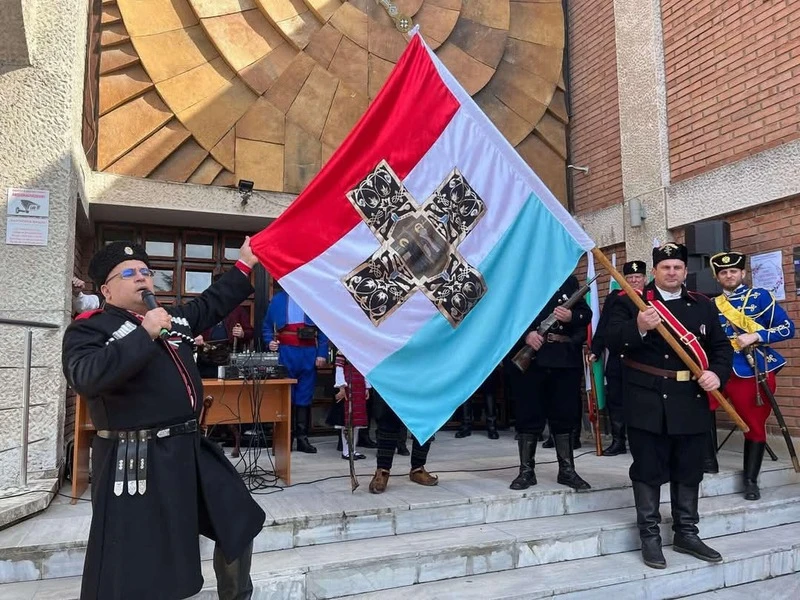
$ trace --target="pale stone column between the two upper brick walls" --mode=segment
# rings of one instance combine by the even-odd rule
[[[614,0],[619,87],[625,250],[630,260],[650,262],[653,239],[669,239],[666,194],[669,184],[664,45],[660,0]],[[646,211],[631,227],[630,205]]]

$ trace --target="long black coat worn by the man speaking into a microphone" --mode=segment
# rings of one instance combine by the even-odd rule
[[[166,341],[152,340],[132,313],[114,306],[76,320],[64,334],[63,367],[86,398],[95,427],[139,430],[197,418],[203,386],[193,338],[252,292],[231,269],[172,315]],[[238,558],[261,531],[264,511],[214,444],[199,433],[153,437],[147,490],[113,493],[116,440],[92,444],[92,524],[82,600],[186,598],[203,584],[199,534]]]

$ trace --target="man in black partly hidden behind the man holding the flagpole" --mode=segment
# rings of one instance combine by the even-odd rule
[[[644,289],[645,271],[647,264],[643,260],[632,260],[622,265],[622,274],[631,286],[638,291]],[[603,303],[603,312],[597,322],[597,331],[592,338],[591,354],[589,360],[595,362],[603,360],[603,351],[606,349],[606,328],[611,316],[611,307],[619,298],[620,290],[612,290]],[[625,446],[625,419],[622,416],[622,362],[619,355],[608,353],[605,368],[606,377],[606,406],[608,417],[611,421],[611,445],[603,450],[603,456],[616,456],[628,452]]]

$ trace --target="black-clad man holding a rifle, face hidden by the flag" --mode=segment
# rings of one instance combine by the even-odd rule
[[[578,280],[570,275],[510,352],[510,356],[514,356],[525,344],[536,351],[525,373],[514,365],[506,365],[516,415],[520,463],[519,475],[511,482],[512,490],[536,485],[536,442],[545,421],[549,423],[555,441],[558,483],[575,490],[591,487],[575,472],[572,431],[580,425],[583,412],[582,346],[586,341],[586,326],[592,320],[592,310],[583,298],[572,309],[561,306],[579,287]],[[550,332],[541,336],[536,329],[550,313],[555,314],[558,321]]]

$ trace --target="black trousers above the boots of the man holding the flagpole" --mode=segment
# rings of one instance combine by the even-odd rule
[[[631,481],[660,486],[668,481],[698,485],[703,480],[707,433],[669,435],[628,426]]]

